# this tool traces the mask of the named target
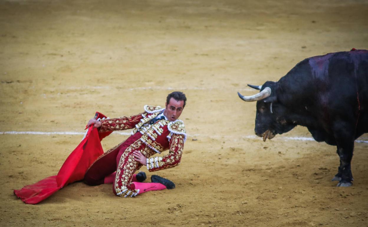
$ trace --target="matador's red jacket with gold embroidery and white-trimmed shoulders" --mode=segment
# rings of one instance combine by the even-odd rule
[[[169,154],[162,157],[147,158],[147,169],[152,171],[162,170],[180,164],[184,142],[187,134],[184,123],[181,120],[158,120],[149,124],[152,118],[158,116],[164,108],[160,106],[144,106],[144,112],[130,117],[120,117],[100,120],[102,126],[100,132],[132,129],[132,134],[140,132],[140,140],[157,153],[169,149]]]

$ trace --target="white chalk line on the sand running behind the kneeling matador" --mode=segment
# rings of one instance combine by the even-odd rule
[[[130,132],[118,132],[118,131],[114,131],[114,134],[119,134],[119,135],[131,135]],[[5,132],[0,132],[1,135],[6,135],[6,134],[13,134],[13,135],[84,135],[85,132],[32,132],[32,131],[5,131]],[[222,135],[203,135],[203,134],[192,134],[192,135],[188,135],[188,137],[209,137],[209,138],[234,138],[234,136],[222,136]],[[258,136],[255,135],[244,135],[241,136],[240,138],[247,138],[247,139],[256,139],[259,138]],[[290,137],[290,136],[278,136],[277,138],[283,139],[283,140],[298,140],[298,141],[315,141],[312,137]],[[355,140],[355,142],[357,143],[368,143],[367,140]]]

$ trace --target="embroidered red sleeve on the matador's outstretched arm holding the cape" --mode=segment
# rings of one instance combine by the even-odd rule
[[[147,113],[140,113],[130,117],[120,117],[100,120],[102,125],[100,127],[100,132],[114,131],[114,130],[126,130],[135,128],[135,125],[145,117]]]

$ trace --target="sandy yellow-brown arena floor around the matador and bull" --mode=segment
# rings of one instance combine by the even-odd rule
[[[182,162],[155,172],[176,188],[136,198],[77,182],[26,205],[13,189],[57,174],[82,135],[0,134],[0,226],[368,226],[368,143],[355,143],[353,187],[336,188],[335,147],[286,138],[311,138],[303,127],[263,142],[236,93],[368,49],[367,12],[367,0],[0,1],[1,132],[83,132],[95,111],[188,97]]]

